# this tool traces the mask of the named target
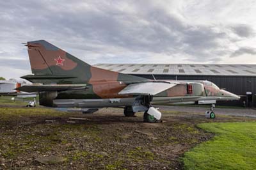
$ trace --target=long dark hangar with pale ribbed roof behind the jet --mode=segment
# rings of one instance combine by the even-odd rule
[[[256,107],[256,65],[97,64],[100,68],[148,79],[207,80],[239,95],[239,101],[220,105]],[[153,77],[154,75],[154,77]]]

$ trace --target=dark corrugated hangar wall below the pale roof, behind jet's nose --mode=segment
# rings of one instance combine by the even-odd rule
[[[147,79],[154,79],[148,74],[132,74]],[[214,76],[214,75],[160,75],[154,74],[156,79],[177,79],[177,80],[207,80],[214,82],[218,87],[227,89],[231,93],[239,95],[239,101],[218,102],[219,105],[236,105],[246,107],[256,107],[256,77],[252,76]],[[252,100],[246,92],[252,92]]]

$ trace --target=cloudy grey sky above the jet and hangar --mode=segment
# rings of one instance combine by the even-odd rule
[[[21,43],[88,63],[256,64],[256,1],[0,1],[0,76],[31,73]]]

